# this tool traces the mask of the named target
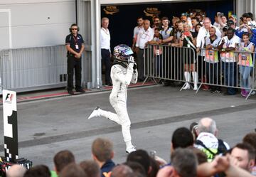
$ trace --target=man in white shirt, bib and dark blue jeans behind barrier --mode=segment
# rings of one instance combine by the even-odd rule
[[[237,89],[237,63],[235,53],[233,50],[240,44],[240,38],[235,36],[235,29],[228,28],[227,36],[223,37],[218,49],[220,51],[220,58],[222,60],[223,75],[225,77],[225,85],[227,88],[227,95],[235,95]]]

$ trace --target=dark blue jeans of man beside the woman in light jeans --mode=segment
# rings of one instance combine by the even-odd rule
[[[237,63],[222,62],[223,75],[225,75],[225,85],[230,86],[227,89],[229,95],[235,95],[237,92]]]

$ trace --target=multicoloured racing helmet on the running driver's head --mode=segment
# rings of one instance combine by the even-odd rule
[[[133,54],[132,48],[128,45],[120,44],[114,47],[114,59],[128,63],[128,58]]]

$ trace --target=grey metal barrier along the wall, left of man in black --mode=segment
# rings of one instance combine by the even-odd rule
[[[17,92],[64,87],[67,80],[65,45],[0,51],[0,85]]]

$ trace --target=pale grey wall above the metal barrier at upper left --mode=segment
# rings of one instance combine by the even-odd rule
[[[1,0],[0,21],[0,49],[64,44],[75,0]]]

